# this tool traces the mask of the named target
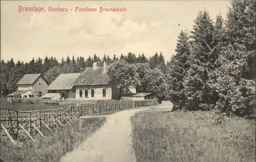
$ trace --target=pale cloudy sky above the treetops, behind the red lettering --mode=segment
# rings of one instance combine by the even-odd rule
[[[19,7],[44,7],[45,12],[18,12]],[[94,53],[113,57],[149,58],[162,52],[165,61],[175,55],[181,30],[191,31],[199,10],[212,20],[226,17],[230,1],[1,1],[1,60],[29,62],[33,58],[82,56]],[[68,12],[49,12],[48,8]],[[75,12],[75,8],[97,12]],[[126,8],[124,12],[99,12],[102,8]],[[71,10],[73,9],[73,10]]]

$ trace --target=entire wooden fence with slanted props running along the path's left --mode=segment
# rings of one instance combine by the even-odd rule
[[[39,133],[45,138],[40,131],[42,127],[52,131],[53,127],[63,127],[83,115],[101,114],[115,110],[125,110],[138,106],[150,106],[158,104],[155,99],[128,101],[128,100],[98,100],[91,103],[80,104],[80,106],[69,106],[52,110],[39,111],[17,111],[9,107],[1,107],[1,138],[6,137],[16,145],[15,140],[18,136],[28,136],[33,142],[33,136]]]

